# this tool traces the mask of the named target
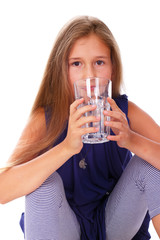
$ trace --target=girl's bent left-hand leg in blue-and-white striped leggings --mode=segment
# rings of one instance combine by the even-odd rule
[[[54,172],[25,199],[26,240],[79,240],[80,227],[61,177]]]

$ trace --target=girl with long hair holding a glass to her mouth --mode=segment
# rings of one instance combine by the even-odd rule
[[[98,130],[81,126],[99,119],[82,116],[96,106],[78,108],[83,99],[74,101],[73,83],[94,76],[112,80],[112,111],[104,114],[113,134],[90,145],[82,135]],[[87,16],[64,26],[0,174],[1,203],[26,195],[27,240],[147,240],[150,218],[160,236],[160,127],[121,95],[121,85],[120,53],[108,27]]]

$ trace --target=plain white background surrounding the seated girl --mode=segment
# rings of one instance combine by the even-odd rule
[[[38,91],[54,39],[72,17],[92,15],[113,32],[129,99],[160,124],[159,0],[0,2],[0,166],[12,152]],[[24,198],[0,205],[0,239],[22,240]],[[150,226],[152,240],[158,239]]]

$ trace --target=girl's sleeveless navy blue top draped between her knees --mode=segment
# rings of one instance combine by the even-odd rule
[[[127,96],[121,95],[115,101],[127,116]],[[47,112],[46,118],[48,119]],[[66,134],[67,128],[56,144],[63,141]],[[85,169],[79,167],[79,162],[84,157],[87,163]],[[67,200],[79,221],[82,240],[105,240],[106,202],[131,157],[130,151],[118,147],[114,141],[84,144],[79,154],[57,170],[63,180]],[[22,225],[23,221],[22,217]],[[147,213],[133,240],[150,239],[149,221]]]

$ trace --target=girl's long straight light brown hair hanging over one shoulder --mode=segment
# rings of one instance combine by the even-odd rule
[[[114,98],[120,94],[122,64],[119,48],[111,31],[101,20],[94,17],[80,16],[72,19],[57,36],[31,110],[31,115],[34,115],[39,108],[50,109],[46,136],[38,143],[28,145],[24,153],[6,169],[27,162],[52,147],[65,129],[69,106],[74,100],[68,81],[68,56],[76,40],[91,33],[96,34],[110,48],[113,65],[112,96]]]

